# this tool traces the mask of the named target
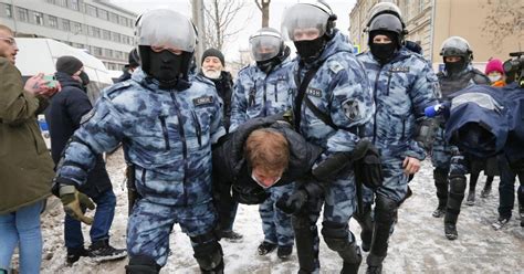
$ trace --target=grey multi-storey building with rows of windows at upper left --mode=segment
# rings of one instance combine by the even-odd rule
[[[50,38],[86,50],[108,70],[127,64],[136,18],[101,0],[0,0],[0,23],[15,36]]]

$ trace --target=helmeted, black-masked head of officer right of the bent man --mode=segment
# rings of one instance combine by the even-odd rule
[[[282,34],[293,41],[301,60],[313,62],[333,38],[335,20],[324,1],[296,3],[284,12]]]

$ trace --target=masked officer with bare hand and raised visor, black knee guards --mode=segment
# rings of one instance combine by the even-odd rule
[[[369,190],[355,219],[363,226],[363,250],[370,251],[367,273],[380,273],[398,207],[408,194],[408,178],[419,171],[425,148],[432,141],[421,130],[431,126],[425,108],[437,103],[440,92],[428,62],[404,46],[406,31],[398,15],[373,17],[368,31],[370,50],[357,59],[375,87],[376,113],[366,131],[380,151],[384,183],[375,191],[373,222]]]

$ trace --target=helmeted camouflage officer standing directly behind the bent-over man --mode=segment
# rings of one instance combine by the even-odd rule
[[[248,119],[265,117],[290,108],[290,78],[287,71],[290,49],[280,32],[262,28],[250,38],[251,55],[256,61],[239,72],[233,91],[230,131]],[[277,256],[289,257],[293,251],[291,217],[275,208],[283,193],[293,190],[293,185],[270,188],[271,196],[260,204],[264,240],[258,247],[265,255],[277,247]]]

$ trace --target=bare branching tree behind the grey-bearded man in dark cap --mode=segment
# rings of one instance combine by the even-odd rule
[[[247,4],[242,0],[205,0],[205,48],[222,50],[224,43],[245,28],[245,24],[233,25],[232,22]]]

